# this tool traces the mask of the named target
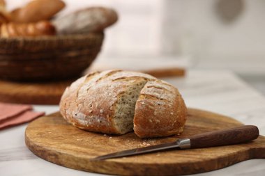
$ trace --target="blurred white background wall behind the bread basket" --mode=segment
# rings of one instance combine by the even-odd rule
[[[8,0],[14,8],[27,0]],[[224,24],[218,0],[65,0],[60,15],[77,8],[115,8],[119,22],[107,29],[101,57],[191,56],[199,67],[240,72],[265,70],[265,1],[243,1],[241,15]]]

